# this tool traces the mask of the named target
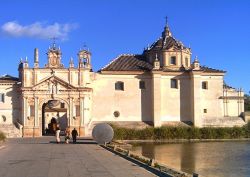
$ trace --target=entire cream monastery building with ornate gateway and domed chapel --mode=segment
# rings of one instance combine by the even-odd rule
[[[224,71],[202,67],[197,58],[192,63],[191,49],[175,40],[168,26],[142,55],[118,56],[97,73],[87,50],[78,53],[76,65],[70,60],[69,68],[55,45],[47,55],[40,67],[36,49],[34,67],[24,61],[19,78],[0,78],[0,124],[18,122],[23,136],[52,131],[52,117],[61,129],[77,128],[84,136],[98,122],[203,127],[204,120],[244,111],[244,93],[224,85]]]

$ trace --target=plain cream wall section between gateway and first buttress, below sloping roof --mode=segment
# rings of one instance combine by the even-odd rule
[[[98,75],[93,83],[92,121],[152,121],[151,77],[147,75]],[[139,88],[139,81],[146,89]],[[124,91],[115,90],[117,81]],[[114,112],[119,112],[115,117]]]

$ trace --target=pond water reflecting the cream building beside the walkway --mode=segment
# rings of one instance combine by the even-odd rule
[[[250,142],[140,143],[132,151],[204,176],[250,176]]]

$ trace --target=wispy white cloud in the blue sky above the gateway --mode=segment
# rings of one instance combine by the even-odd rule
[[[10,21],[1,26],[2,32],[14,37],[31,37],[39,39],[49,39],[52,37],[66,40],[69,32],[77,28],[77,24],[72,23],[46,23],[35,22],[30,25],[21,25],[16,21]]]

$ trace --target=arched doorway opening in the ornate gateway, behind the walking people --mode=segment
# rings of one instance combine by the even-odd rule
[[[42,105],[42,135],[54,135],[56,128],[69,126],[67,105],[61,100],[49,100]]]

